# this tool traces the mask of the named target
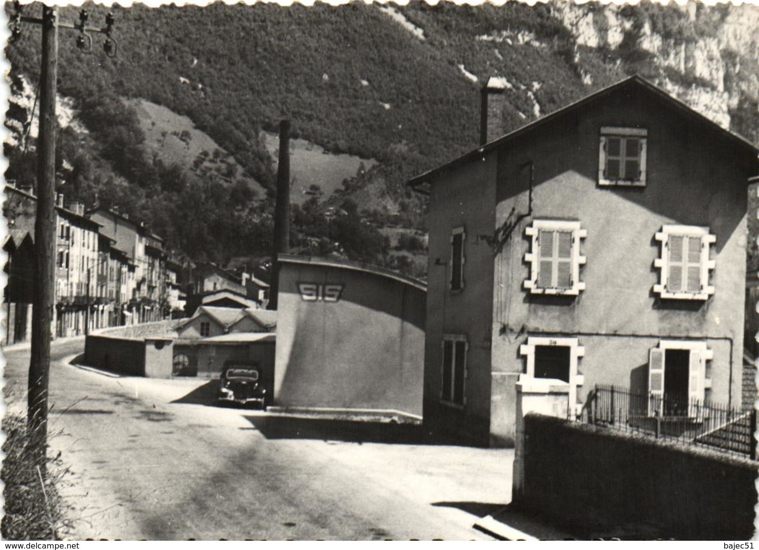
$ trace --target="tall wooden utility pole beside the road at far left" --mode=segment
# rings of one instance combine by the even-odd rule
[[[46,471],[50,330],[55,305],[55,84],[58,77],[58,11],[43,6],[39,82],[37,213],[34,222],[35,280],[27,423],[34,466]]]

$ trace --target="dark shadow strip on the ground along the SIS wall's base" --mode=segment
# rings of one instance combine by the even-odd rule
[[[298,416],[246,416],[266,439],[320,439],[354,443],[423,444],[420,425]]]

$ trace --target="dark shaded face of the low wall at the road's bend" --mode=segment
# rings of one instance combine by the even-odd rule
[[[121,375],[144,376],[145,341],[90,334],[84,341],[84,362]]]

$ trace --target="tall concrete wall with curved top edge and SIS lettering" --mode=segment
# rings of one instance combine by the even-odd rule
[[[275,403],[421,414],[426,295],[383,270],[285,258]]]

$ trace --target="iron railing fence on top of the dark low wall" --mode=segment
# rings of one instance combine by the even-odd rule
[[[757,460],[756,410],[688,400],[676,395],[637,394],[597,385],[579,419],[654,438],[703,445]]]

